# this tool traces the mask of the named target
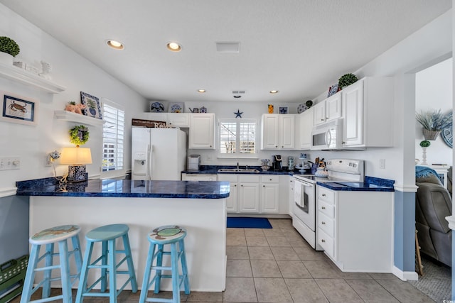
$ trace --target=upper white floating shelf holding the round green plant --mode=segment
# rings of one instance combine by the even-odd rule
[[[33,72],[28,72],[14,65],[10,66],[0,63],[0,77],[38,87],[38,89],[43,89],[43,91],[53,94],[58,94],[66,89],[66,87],[55,84],[48,79],[33,74]]]

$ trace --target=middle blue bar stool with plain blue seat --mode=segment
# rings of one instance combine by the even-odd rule
[[[125,224],[112,224],[100,226],[87,233],[87,247],[84,253],[84,263],[80,273],[79,287],[77,287],[76,302],[80,303],[84,297],[109,297],[110,303],[117,302],[117,296],[124,287],[131,282],[132,292],[137,292],[137,281],[134,273],[133,258],[128,238],[129,226]],[[116,250],[115,241],[122,238],[124,250]],[[95,261],[91,262],[94,243],[102,243],[102,254]],[[115,256],[124,254],[124,258],[116,264]],[[101,262],[100,262],[101,261]],[[128,270],[117,270],[120,265],[127,261]],[[100,264],[101,263],[101,264]],[[88,270],[101,269],[101,277],[87,287]],[[107,290],[107,276],[109,275],[109,292]],[[117,290],[117,275],[129,275],[127,282]],[[101,282],[101,292],[91,292],[93,287]]]

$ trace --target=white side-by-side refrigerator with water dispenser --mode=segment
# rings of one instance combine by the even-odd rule
[[[132,128],[132,180],[181,180],[186,133],[177,128]]]

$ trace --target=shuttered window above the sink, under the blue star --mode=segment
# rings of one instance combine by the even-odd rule
[[[256,153],[256,120],[220,121],[220,154],[252,155]]]

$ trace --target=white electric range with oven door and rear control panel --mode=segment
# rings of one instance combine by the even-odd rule
[[[292,225],[316,250],[323,250],[318,243],[316,228],[316,182],[363,182],[363,160],[332,159],[326,161],[328,177],[294,175],[294,204]]]

